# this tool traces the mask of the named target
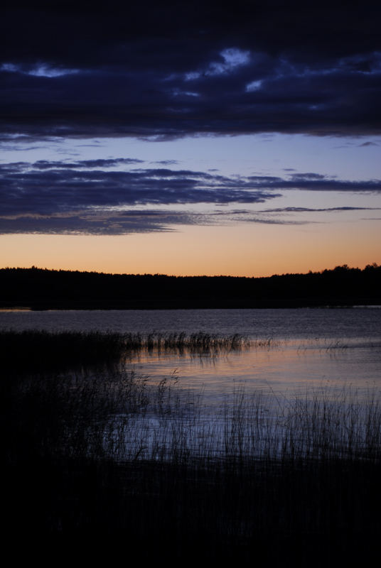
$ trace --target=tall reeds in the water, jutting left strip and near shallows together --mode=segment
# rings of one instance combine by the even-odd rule
[[[11,431],[26,430],[36,438],[33,447],[40,437],[40,452],[204,464],[380,459],[376,390],[360,398],[348,388],[322,387],[280,400],[275,393],[236,388],[220,408],[208,408],[176,376],[155,384],[123,363],[142,350],[218,354],[247,347],[238,335],[0,332],[0,344]]]

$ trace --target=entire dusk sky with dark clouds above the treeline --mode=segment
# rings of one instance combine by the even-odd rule
[[[381,263],[381,8],[5,2],[0,266]]]

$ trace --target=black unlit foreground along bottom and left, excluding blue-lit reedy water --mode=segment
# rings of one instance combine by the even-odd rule
[[[12,339],[4,337],[10,349]],[[12,337],[22,346],[26,336]],[[82,363],[75,338],[87,345]],[[46,359],[49,371],[33,358],[29,368],[4,359],[3,536],[14,561],[36,554],[49,561],[53,546],[55,557],[70,562],[73,555],[83,562],[120,562],[122,553],[125,564],[370,565],[381,530],[380,413],[365,422],[367,447],[345,437],[341,453],[329,442],[309,454],[288,444],[278,458],[269,451],[253,459],[240,452],[238,436],[220,459],[190,454],[181,440],[166,459],[141,459],[140,450],[114,459],[104,450],[114,405],[124,393],[126,412],[141,413],[149,404],[146,391],[133,377],[126,383],[110,337],[104,337],[104,361],[98,357],[92,366],[89,349],[95,342],[99,354],[102,336],[50,339],[50,353],[54,343],[71,345],[70,373],[55,356]],[[36,332],[33,341],[41,357],[46,334]],[[126,356],[125,348],[119,355]],[[122,378],[124,390],[117,390]],[[161,410],[170,412],[168,405]],[[330,432],[323,435],[331,439]],[[117,442],[109,439],[116,457]]]

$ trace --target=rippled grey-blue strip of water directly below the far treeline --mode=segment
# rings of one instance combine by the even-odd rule
[[[0,329],[240,333],[262,339],[381,339],[377,308],[283,310],[0,310]]]

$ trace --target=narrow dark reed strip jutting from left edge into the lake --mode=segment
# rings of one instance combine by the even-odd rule
[[[48,332],[30,329],[22,332],[0,330],[1,359],[4,371],[33,372],[73,366],[114,363],[141,351],[177,351],[178,354],[218,354],[244,349],[252,344],[269,346],[271,340],[250,342],[239,334],[223,336],[198,332],[117,333]]]

